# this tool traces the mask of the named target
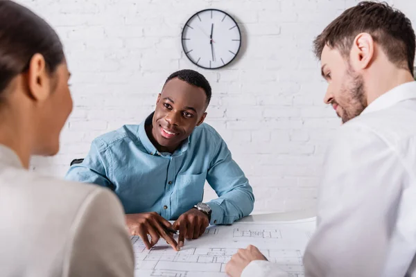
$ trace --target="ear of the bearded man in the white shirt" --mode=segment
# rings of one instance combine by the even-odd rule
[[[369,33],[356,35],[349,58],[356,71],[367,69],[371,65],[374,60],[374,39]]]

